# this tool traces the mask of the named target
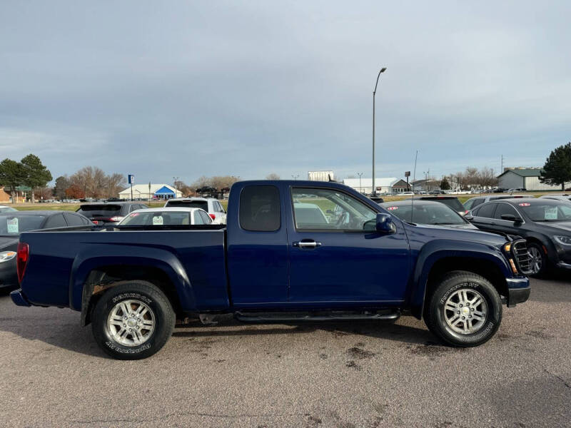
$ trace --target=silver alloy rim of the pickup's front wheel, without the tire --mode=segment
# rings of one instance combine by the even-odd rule
[[[444,304],[446,324],[452,330],[470,335],[482,328],[487,317],[485,298],[471,288],[453,292]]]

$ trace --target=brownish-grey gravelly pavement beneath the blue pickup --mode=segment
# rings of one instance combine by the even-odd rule
[[[497,335],[443,347],[423,322],[177,328],[111,360],[79,313],[0,297],[0,426],[570,427],[571,281],[532,280]]]

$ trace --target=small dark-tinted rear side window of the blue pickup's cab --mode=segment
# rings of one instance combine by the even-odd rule
[[[275,185],[248,185],[240,195],[240,226],[253,232],[280,228],[280,191]]]

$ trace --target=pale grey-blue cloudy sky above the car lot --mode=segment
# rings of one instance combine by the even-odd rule
[[[160,4],[159,4],[160,3]],[[468,4],[470,3],[470,4]],[[571,140],[571,2],[12,1],[0,158],[54,178],[440,176]]]

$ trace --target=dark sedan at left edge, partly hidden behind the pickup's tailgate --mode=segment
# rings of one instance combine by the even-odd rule
[[[16,250],[21,233],[29,230],[89,230],[93,223],[69,211],[16,211],[0,213],[0,290],[18,287]]]

